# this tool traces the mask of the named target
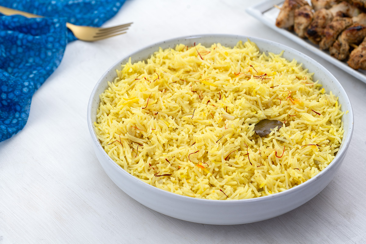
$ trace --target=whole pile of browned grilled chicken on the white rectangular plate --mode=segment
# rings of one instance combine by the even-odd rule
[[[350,0],[351,1],[351,0]],[[354,1],[354,0],[353,0]],[[363,0],[366,5],[366,0]],[[350,67],[366,68],[366,14],[346,1],[312,0],[313,7],[303,0],[285,0],[276,25],[294,29],[299,37],[307,37],[320,49],[329,49],[339,60],[350,56]],[[358,4],[360,5],[360,4]],[[363,40],[350,55],[350,49]]]

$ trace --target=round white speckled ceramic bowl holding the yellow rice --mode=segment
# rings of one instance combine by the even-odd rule
[[[127,173],[105,153],[94,131],[94,121],[96,121],[97,108],[100,103],[99,94],[107,89],[107,81],[112,82],[116,78],[115,70],[121,69],[121,64],[127,63],[129,57],[131,57],[131,61],[134,63],[146,60],[159,47],[163,49],[175,48],[175,45],[179,43],[191,46],[194,42],[205,46],[220,42],[224,46],[233,47],[238,41],[246,41],[248,38],[257,44],[261,52],[280,53],[284,50],[283,57],[288,60],[296,59],[298,63],[303,63],[303,67],[315,73],[314,80],[319,80],[319,83],[323,85],[327,92],[331,90],[333,94],[339,97],[339,103],[342,105],[341,109],[349,111],[342,116],[344,125],[343,141],[335,159],[328,167],[310,180],[273,195],[242,200],[208,200],[181,196],[153,187]],[[150,209],[174,218],[202,224],[231,225],[261,221],[287,213],[309,201],[322,191],[329,184],[330,180],[333,179],[346,155],[352,137],[354,116],[346,91],[344,91],[337,79],[321,64],[303,53],[261,38],[210,34],[174,38],[140,49],[119,60],[102,75],[94,87],[89,99],[87,121],[100,164],[112,181],[132,198]]]

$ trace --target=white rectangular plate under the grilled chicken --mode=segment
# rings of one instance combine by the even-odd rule
[[[281,29],[276,26],[276,19],[280,12],[275,5],[281,6],[284,0],[265,0],[261,3],[254,5],[253,7],[247,8],[247,13],[257,18],[266,26],[272,28],[278,33],[284,35],[285,37],[291,39],[294,42],[297,42],[299,45],[309,49],[311,52],[317,54],[325,60],[328,60],[330,63],[336,65],[342,70],[346,71],[348,74],[353,75],[357,79],[362,80],[366,83],[366,71],[365,70],[354,70],[348,66],[346,62],[339,61],[334,57],[329,55],[328,51],[320,50],[319,47],[309,40],[302,39],[298,37],[294,32],[288,31],[287,29]]]

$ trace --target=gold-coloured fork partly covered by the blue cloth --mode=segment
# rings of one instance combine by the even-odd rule
[[[6,8],[0,6],[0,12],[4,15],[22,15],[27,18],[44,18],[44,16],[31,14],[28,12],[15,10],[12,8]],[[66,23],[66,27],[72,31],[76,38],[82,41],[99,41],[105,38],[114,37],[116,35],[126,33],[126,30],[131,23],[113,26],[109,28],[100,28],[100,27],[92,27],[92,26],[79,26],[73,25],[71,23]]]

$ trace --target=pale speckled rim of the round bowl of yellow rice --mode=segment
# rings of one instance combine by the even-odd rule
[[[115,67],[117,64],[122,65],[122,60],[126,60],[126,59],[128,60],[129,57],[137,55],[138,53],[142,52],[143,50],[151,49],[152,47],[158,47],[159,48],[160,46],[164,45],[166,42],[183,41],[183,40],[187,40],[187,39],[209,38],[209,37],[213,38],[213,43],[215,42],[214,38],[233,38],[233,39],[240,38],[240,40],[243,40],[243,41],[248,39],[248,40],[253,41],[254,43],[256,43],[256,40],[259,40],[259,41],[262,41],[262,42],[267,42],[270,45],[277,45],[278,47],[282,48],[285,51],[288,51],[290,53],[294,53],[298,56],[302,56],[305,59],[309,60],[311,63],[314,63],[315,65],[317,65],[317,67],[319,67],[321,70],[323,70],[325,72],[325,74],[330,79],[333,80],[333,82],[335,82],[334,85],[338,86],[338,89],[339,89],[341,94],[344,94],[344,96],[342,96],[342,97],[346,101],[345,103],[349,104],[350,108],[348,109],[348,113],[347,114],[345,113],[343,116],[347,115],[350,118],[350,127],[349,128],[344,128],[343,127],[344,131],[345,132],[347,131],[347,135],[343,137],[343,140],[341,142],[341,143],[343,143],[343,146],[337,152],[336,157],[332,160],[332,162],[329,163],[329,165],[325,169],[321,170],[317,175],[315,175],[314,177],[310,178],[309,180],[306,180],[305,182],[303,182],[299,185],[295,185],[294,187],[291,187],[290,189],[287,189],[287,190],[281,191],[281,192],[277,192],[277,193],[274,193],[274,194],[271,194],[271,195],[259,196],[259,197],[248,198],[248,199],[215,200],[215,199],[203,199],[203,198],[195,198],[195,197],[191,197],[191,196],[179,195],[179,194],[176,194],[176,193],[173,193],[173,192],[169,192],[169,191],[165,191],[163,189],[157,188],[153,185],[145,183],[144,181],[142,181],[138,177],[133,176],[132,174],[128,173],[121,166],[119,166],[115,161],[113,161],[113,159],[111,157],[108,156],[108,154],[104,151],[103,147],[101,146],[101,144],[99,142],[99,139],[96,136],[96,133],[94,131],[94,124],[93,124],[93,121],[91,119],[91,110],[92,110],[93,98],[94,98],[94,95],[96,94],[96,92],[98,90],[98,87],[100,86],[100,83],[102,83],[102,80],[105,78],[105,76],[107,76],[108,73],[111,72],[113,67]],[[177,42],[177,44],[179,44],[179,43]],[[155,51],[157,51],[157,50],[153,50],[152,52],[155,52]],[[248,36],[248,35],[198,34],[198,35],[187,35],[187,36],[182,36],[182,37],[170,38],[170,39],[167,39],[167,40],[164,40],[164,41],[160,41],[160,42],[156,42],[156,43],[147,45],[143,48],[140,48],[140,49],[124,56],[122,59],[119,59],[117,62],[115,62],[111,67],[108,68],[107,71],[104,72],[104,74],[98,80],[98,82],[96,83],[96,85],[94,86],[94,88],[91,92],[89,102],[88,102],[88,105],[87,105],[87,123],[88,123],[90,135],[93,139],[93,143],[96,144],[97,150],[99,150],[102,153],[103,157],[105,159],[107,159],[108,163],[111,164],[112,167],[114,167],[118,172],[120,172],[124,176],[128,177],[128,179],[133,181],[134,184],[141,185],[141,187],[145,187],[147,190],[153,191],[156,194],[164,195],[164,196],[167,196],[169,198],[176,198],[177,200],[186,200],[186,201],[193,201],[193,202],[205,203],[205,204],[235,205],[235,204],[239,204],[239,203],[240,204],[249,203],[249,202],[253,203],[253,202],[258,202],[258,201],[266,201],[268,199],[273,199],[273,198],[282,198],[284,195],[293,194],[296,191],[299,191],[303,188],[306,188],[308,185],[313,184],[318,178],[325,175],[326,172],[331,170],[336,164],[341,163],[342,158],[344,157],[344,154],[346,154],[348,146],[350,145],[350,142],[351,142],[351,138],[352,138],[352,134],[353,134],[353,130],[354,130],[354,113],[353,113],[350,98],[348,97],[348,95],[347,95],[346,91],[344,90],[343,86],[341,85],[341,83],[323,65],[318,63],[318,61],[314,60],[313,58],[305,55],[304,53],[299,52],[298,50],[296,50],[294,48],[291,48],[291,47],[285,46],[283,44],[280,44],[278,42],[274,42],[274,41],[267,40],[267,39],[264,39],[264,38]]]

